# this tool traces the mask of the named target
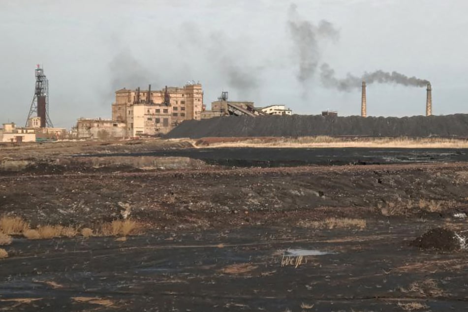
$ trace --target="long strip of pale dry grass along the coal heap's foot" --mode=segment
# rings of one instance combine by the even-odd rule
[[[298,138],[205,138],[196,142],[201,147],[262,147],[262,148],[468,148],[468,140],[446,138],[341,138],[331,136],[304,136]]]

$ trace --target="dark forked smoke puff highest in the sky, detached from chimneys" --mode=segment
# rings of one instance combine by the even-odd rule
[[[304,83],[315,74],[320,61],[318,40],[321,38],[337,40],[339,31],[332,23],[325,20],[320,21],[318,26],[302,20],[297,12],[297,5],[294,3],[288,10],[288,29],[299,60],[297,79]]]

